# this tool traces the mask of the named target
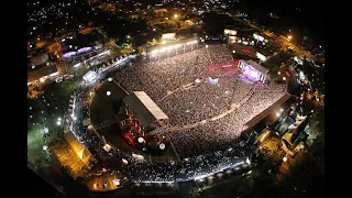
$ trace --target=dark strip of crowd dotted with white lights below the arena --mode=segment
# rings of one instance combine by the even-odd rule
[[[239,146],[227,146],[182,162],[170,163],[132,163],[129,167],[131,180],[139,182],[185,182],[199,176],[222,172],[245,163],[248,153]]]

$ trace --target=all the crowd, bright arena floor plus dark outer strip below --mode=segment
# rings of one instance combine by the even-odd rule
[[[114,152],[114,156],[131,162],[121,169],[131,180],[189,180],[244,163],[249,154],[234,142],[248,128],[245,123],[283,97],[286,90],[282,85],[244,81],[237,74],[212,76],[217,78],[216,82],[209,80],[209,65],[228,62],[227,53],[230,54],[226,45],[209,45],[156,62],[140,61],[116,73],[114,79],[128,91],[145,91],[169,117],[169,125],[180,129],[163,132],[173,142],[180,162],[139,163],[131,156]],[[78,95],[77,102],[84,109],[81,118],[89,114],[84,102],[87,98],[88,91]],[[219,114],[224,117],[213,119]],[[195,123],[194,128],[182,129]],[[77,131],[88,130],[81,125],[76,128]],[[108,154],[101,148],[100,140],[89,140],[85,133],[81,135],[92,154],[101,156],[98,161],[110,162],[113,158],[111,152]],[[99,145],[99,148],[94,148],[94,145]]]

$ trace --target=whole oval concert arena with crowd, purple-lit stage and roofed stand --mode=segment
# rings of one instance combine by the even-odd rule
[[[290,98],[257,63],[233,61],[227,44],[187,43],[153,47],[152,58],[95,88],[95,131],[125,158],[144,162],[130,164],[134,182],[196,179],[242,165],[248,155],[237,148],[241,133]],[[180,165],[187,163],[200,168]]]

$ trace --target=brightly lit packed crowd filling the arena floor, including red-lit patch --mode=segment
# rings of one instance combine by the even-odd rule
[[[154,51],[153,57],[161,52]],[[179,158],[227,147],[249,122],[288,95],[284,85],[246,78],[227,44],[198,47],[197,43],[185,53],[166,53],[164,58],[119,70],[114,79],[130,94],[145,91],[167,114],[168,124],[161,133]]]

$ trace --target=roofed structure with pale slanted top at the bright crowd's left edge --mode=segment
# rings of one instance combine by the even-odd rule
[[[168,119],[144,91],[133,91],[133,94],[124,97],[123,102],[145,128],[150,127],[154,121]]]

